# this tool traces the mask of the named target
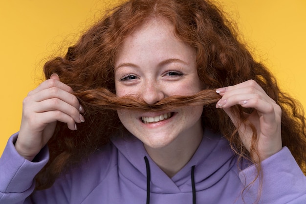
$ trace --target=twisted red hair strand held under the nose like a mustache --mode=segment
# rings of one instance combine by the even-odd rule
[[[98,88],[76,92],[85,110],[105,111],[105,110],[134,110],[134,111],[171,111],[183,106],[209,106],[216,104],[221,96],[215,90],[202,90],[194,95],[181,96],[173,95],[165,97],[154,104],[146,103],[138,95],[126,95],[117,97],[108,89]]]

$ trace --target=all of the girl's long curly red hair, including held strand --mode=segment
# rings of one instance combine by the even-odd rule
[[[249,159],[258,168],[256,131],[251,151],[243,146],[237,128],[222,110],[215,108],[219,96],[213,91],[199,92],[192,97],[165,99],[153,107],[129,96],[115,97],[114,60],[126,36],[152,18],[166,19],[173,24],[175,36],[197,51],[197,72],[207,89],[235,85],[255,80],[282,108],[282,141],[302,170],[306,172],[306,125],[300,103],[282,92],[275,78],[261,63],[256,62],[246,46],[239,42],[237,30],[226,20],[217,6],[207,0],[129,0],[114,8],[103,20],[93,25],[69,47],[65,57],[57,57],[44,66],[45,77],[57,73],[69,85],[84,105],[86,122],[78,131],[70,131],[58,123],[48,142],[50,160],[36,177],[36,188],[47,188],[58,175],[88,157],[109,142],[111,136],[122,136],[126,131],[116,110],[172,109],[182,103],[203,103],[202,122],[205,128],[220,132],[230,142],[240,159]],[[181,101],[181,103],[180,103]],[[233,107],[245,122],[242,111],[252,109]]]

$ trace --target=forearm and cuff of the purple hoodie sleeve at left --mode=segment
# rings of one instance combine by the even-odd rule
[[[36,162],[24,159],[15,149],[18,134],[11,136],[0,158],[0,204],[31,204],[27,197],[35,187],[34,177],[49,159],[44,147]]]

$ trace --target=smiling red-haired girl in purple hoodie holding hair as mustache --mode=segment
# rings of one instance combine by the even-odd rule
[[[304,113],[206,0],[130,0],[23,102],[0,204],[301,204]]]

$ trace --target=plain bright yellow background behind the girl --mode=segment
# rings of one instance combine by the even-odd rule
[[[0,155],[46,57],[66,48],[111,0],[0,1]],[[306,107],[306,0],[219,0],[285,91]],[[289,3],[290,2],[290,3]]]

